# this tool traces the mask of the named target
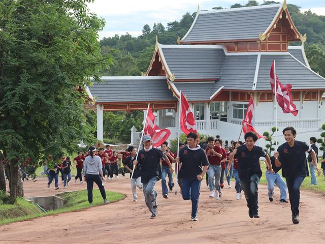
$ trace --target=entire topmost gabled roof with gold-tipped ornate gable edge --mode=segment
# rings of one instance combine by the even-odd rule
[[[207,44],[235,41],[263,41],[284,17],[292,41],[304,41],[295,27],[286,1],[282,4],[199,11],[180,44]]]

